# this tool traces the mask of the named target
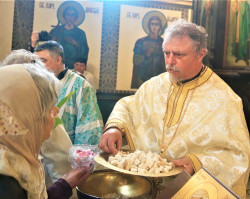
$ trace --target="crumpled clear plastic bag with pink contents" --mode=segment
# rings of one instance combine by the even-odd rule
[[[100,153],[97,145],[73,145],[69,148],[69,162],[73,169],[86,167],[95,169],[95,156]]]

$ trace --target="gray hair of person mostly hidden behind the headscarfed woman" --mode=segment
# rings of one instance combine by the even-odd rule
[[[43,65],[39,56],[25,49],[13,50],[2,62],[2,66],[12,64],[38,63]]]

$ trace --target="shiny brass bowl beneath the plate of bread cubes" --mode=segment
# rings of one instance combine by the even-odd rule
[[[79,199],[121,197],[139,199],[150,198],[152,185],[145,177],[99,170],[91,174],[86,182],[76,189]]]

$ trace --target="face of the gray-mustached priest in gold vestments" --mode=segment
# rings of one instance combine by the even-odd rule
[[[163,48],[166,70],[170,80],[174,82],[191,79],[202,68],[202,59],[206,50],[195,52],[191,39],[188,36],[173,37]]]

